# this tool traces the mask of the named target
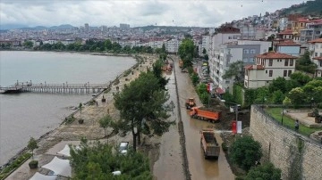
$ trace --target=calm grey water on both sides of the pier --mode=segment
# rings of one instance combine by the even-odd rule
[[[134,65],[129,57],[80,53],[1,52],[0,86],[32,83],[107,83]],[[0,94],[0,166],[25,146],[58,127],[72,113],[66,107],[92,94]]]

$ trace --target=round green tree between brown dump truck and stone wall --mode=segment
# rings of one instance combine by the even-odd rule
[[[250,135],[238,137],[229,148],[233,163],[248,171],[262,157],[260,143]]]

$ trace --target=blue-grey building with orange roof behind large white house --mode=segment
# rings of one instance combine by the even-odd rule
[[[275,52],[286,53],[292,56],[299,57],[301,52],[301,45],[292,40],[281,41],[275,44]]]

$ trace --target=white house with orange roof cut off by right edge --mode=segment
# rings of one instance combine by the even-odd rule
[[[315,77],[322,77],[322,38],[309,41],[311,61],[318,65]]]

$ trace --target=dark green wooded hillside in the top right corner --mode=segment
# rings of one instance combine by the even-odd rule
[[[307,1],[303,4],[292,5],[285,8],[281,15],[300,13],[302,15],[322,16],[322,0]]]

